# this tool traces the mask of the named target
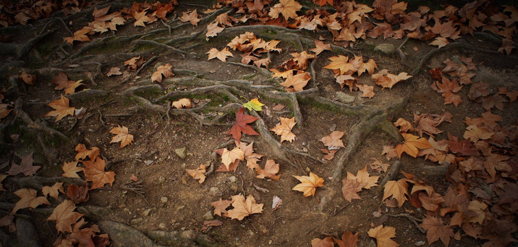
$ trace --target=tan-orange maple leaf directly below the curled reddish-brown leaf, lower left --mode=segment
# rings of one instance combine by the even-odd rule
[[[64,200],[59,204],[47,220],[56,220],[56,230],[62,233],[71,233],[71,224],[78,222],[82,213],[74,212],[75,204],[71,200]]]

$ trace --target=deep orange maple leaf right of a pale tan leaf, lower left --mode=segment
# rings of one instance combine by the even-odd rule
[[[106,183],[110,186],[115,180],[115,172],[104,172],[106,161],[102,158],[95,158],[95,161],[82,161],[84,165],[84,175],[86,181],[92,181],[90,189],[97,189],[103,187]]]

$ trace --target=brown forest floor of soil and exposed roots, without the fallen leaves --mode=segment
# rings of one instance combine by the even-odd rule
[[[99,3],[96,8],[102,9],[110,4],[109,13],[131,6],[115,1]],[[145,27],[135,27],[134,20],[127,21],[117,25],[117,31],[89,35],[91,41],[75,41],[73,45],[63,39],[93,21],[93,6],[85,6],[69,16],[42,18],[27,25],[0,29],[4,47],[14,47],[13,54],[8,51],[1,54],[0,62],[0,83],[5,95],[3,103],[9,105],[7,110],[12,108],[1,121],[0,158],[3,165],[0,172],[6,175],[2,175],[5,191],[0,192],[0,216],[10,215],[3,219],[14,222],[0,227],[3,246],[23,243],[23,238],[32,239],[40,246],[51,246],[61,235],[56,231],[55,222],[47,218],[56,205],[68,199],[65,193],[69,185],[77,183],[82,186],[84,180],[91,181],[82,172],[79,172],[80,178],[62,176],[63,164],[78,160],[75,150],[79,144],[89,150],[98,148],[99,157],[106,161],[106,171],[116,174],[113,182],[103,180],[99,182],[102,183],[99,188],[89,190],[86,202],[76,203],[76,210],[85,213],[84,217],[90,224],[99,224],[101,232],[107,233],[115,246],[124,243],[126,246],[144,246],[147,244],[143,243],[148,243],[145,241],[149,239],[156,246],[310,246],[315,238],[333,236],[340,239],[344,231],[359,233],[359,246],[369,246],[376,240],[369,237],[368,232],[381,224],[395,227],[392,240],[401,246],[421,246],[427,242],[427,234],[417,225],[425,217],[438,215],[449,222],[453,214],[445,216],[446,213],[439,213],[440,209],[447,208],[444,202],[435,213],[421,207],[419,199],[410,195],[410,191],[406,195],[410,202],[401,207],[398,207],[397,200],[385,200],[381,181],[386,177],[390,180],[405,178],[401,172],[415,174],[422,184],[433,187],[439,196],[445,196],[451,188],[458,188],[460,180],[468,184],[466,180],[476,179],[480,187],[471,182],[472,187],[465,187],[473,191],[473,198],[490,205],[485,210],[485,220],[490,222],[493,216],[489,215],[493,212],[493,215],[499,215],[495,219],[505,218],[516,223],[515,213],[511,213],[509,218],[505,213],[491,211],[497,207],[493,207],[497,204],[495,195],[499,195],[497,188],[502,189],[504,185],[497,185],[494,177],[489,183],[487,175],[477,179],[467,169],[462,169],[462,174],[456,172],[460,169],[458,163],[467,160],[468,156],[443,150],[447,153],[446,160],[434,162],[425,156],[414,158],[406,153],[401,154],[401,158],[389,156],[389,160],[384,154],[384,147],[393,148],[403,141],[399,130],[392,124],[400,118],[412,122],[416,115],[429,113],[440,118],[450,113],[451,119],[434,126],[440,132],[432,136],[436,140],[451,141],[449,134],[460,139],[466,137],[467,126],[473,125],[467,121],[477,119],[489,110],[503,117],[498,123],[504,127],[492,132],[503,133],[506,129],[506,136],[499,135],[505,139],[505,145],[501,142],[496,145],[496,139],[482,137],[482,134],[480,140],[488,139],[491,144],[486,145],[494,144],[490,153],[498,152],[508,157],[503,160],[512,169],[497,168],[496,176],[516,185],[518,103],[510,102],[508,99],[512,97],[504,94],[502,98],[505,101],[493,102],[491,107],[480,99],[473,100],[473,85],[480,86],[482,82],[489,92],[486,95],[497,95],[499,88],[506,88],[509,92],[518,89],[515,50],[509,55],[497,53],[501,43],[495,40],[495,36],[491,38],[488,35],[464,35],[440,49],[428,45],[429,41],[414,38],[365,37],[352,47],[336,45],[311,58],[307,66],[311,80],[303,91],[292,93],[285,91],[280,84],[283,78],[272,78],[275,73],[264,66],[258,68],[254,64],[242,64],[239,51],[231,50],[233,57],[226,58],[226,62],[208,60],[206,53],[212,48],[222,50],[236,36],[252,32],[257,38],[280,40],[276,48],[282,50],[271,51],[267,55],[271,60],[268,68],[279,69],[284,61],[292,58],[290,54],[309,52],[308,49],[314,48],[314,40],[332,43],[333,34],[322,28],[311,31],[246,23],[225,27],[217,36],[207,38],[207,25],[213,23],[216,16],[224,13],[236,18],[242,16],[225,6],[203,14],[212,6],[213,3],[203,1],[196,4],[180,1],[165,20],[158,19]],[[200,14],[201,21],[197,25],[180,21],[178,16],[193,9]],[[34,42],[24,47],[27,40]],[[379,47],[389,48],[380,51]],[[373,59],[377,64],[375,73],[387,69],[389,73],[406,72],[412,77],[401,80],[391,89],[382,89],[368,73],[355,76],[355,85],[374,86],[373,97],[362,97],[362,91],[357,88],[349,90],[348,85],[340,86],[333,70],[324,68],[331,61],[328,58],[338,55],[351,59],[362,56],[364,61]],[[130,69],[125,61],[131,58],[143,60],[140,64],[137,62],[135,69]],[[466,62],[471,61],[469,58],[472,62]],[[465,84],[456,93],[462,99],[458,106],[445,104],[445,98],[434,90],[436,86],[431,86],[436,79],[429,71],[443,69],[446,75],[447,60],[475,66],[469,70],[474,75],[467,79],[472,83]],[[161,82],[152,80],[152,75],[164,64],[172,66],[174,75],[169,78],[159,75]],[[108,76],[113,67],[123,73]],[[73,82],[82,80],[82,84],[65,95],[76,114],[56,121],[56,117],[47,117],[47,113],[53,110],[48,104],[64,95],[64,91],[56,90],[56,85],[51,83],[58,72],[66,74]],[[35,75],[36,80],[32,85],[23,83],[19,79],[22,73]],[[191,108],[171,106],[181,98],[190,99]],[[269,159],[279,163],[279,180],[257,178],[257,168],[250,169],[246,161],[240,163],[234,172],[215,171],[218,167],[221,169],[221,157],[215,150],[235,148],[235,140],[229,134],[236,121],[235,114],[244,103],[254,98],[264,104],[262,110],[245,109],[244,113],[258,118],[250,126],[259,135],[243,134],[241,141],[253,142],[255,153],[263,155],[258,162],[259,167],[264,167]],[[284,108],[279,109],[281,106]],[[82,115],[77,114],[80,108],[86,109]],[[280,123],[279,117],[294,117],[294,141],[281,143],[280,137],[270,131]],[[419,120],[413,125],[419,129]],[[110,142],[114,136],[110,130],[117,126],[128,128],[133,137],[133,141],[123,148],[120,148],[120,143]],[[333,131],[344,132],[342,141],[345,148],[340,148],[328,161],[322,158],[321,150],[326,146],[320,139]],[[417,132],[413,134],[418,135]],[[423,134],[424,139],[429,139],[429,136]],[[475,143],[473,141],[469,147],[474,147]],[[23,157],[24,160],[30,159],[27,156],[32,152],[34,163],[31,164],[40,166],[34,176],[12,173],[12,164],[20,163]],[[483,157],[482,152],[478,156]],[[379,161],[378,165],[376,161]],[[387,164],[386,172],[379,168],[380,164]],[[186,169],[197,169],[200,165],[207,165],[202,183],[186,172]],[[82,166],[81,162],[78,166]],[[344,200],[342,180],[346,173],[357,174],[364,167],[370,176],[380,176],[378,186],[363,190],[360,187],[357,193],[360,200]],[[300,183],[294,176],[308,176],[309,172],[323,178],[324,184],[316,188],[314,196],[304,197],[303,193],[292,190]],[[100,173],[102,176],[110,174],[104,169]],[[419,180],[417,178],[414,180]],[[39,191],[43,186],[52,186],[56,182],[63,182],[65,193],[48,198],[47,205],[36,204],[36,209],[19,209],[10,214],[20,198],[14,191],[32,188],[42,196]],[[92,187],[92,183],[88,185]],[[409,185],[412,184],[407,183],[407,187]],[[488,192],[492,196],[480,196],[480,188],[494,190]],[[243,220],[213,214],[211,202],[232,200],[236,195],[253,196],[255,202],[263,204],[262,212]],[[282,205],[273,210],[274,196],[281,198]],[[499,204],[499,210],[502,210],[501,206]],[[516,212],[514,206],[503,208]],[[209,220],[214,220],[215,225],[204,227]],[[464,220],[465,224],[476,222]],[[488,222],[480,222],[480,225],[485,227],[490,224]],[[37,226],[35,232],[24,230],[25,226],[21,228],[23,224],[34,224]],[[451,237],[450,246],[482,246],[485,242],[466,235],[467,231],[461,231],[458,226],[451,225],[449,229],[456,234],[455,237],[448,236],[448,239]],[[443,246],[440,241],[429,244]]]

